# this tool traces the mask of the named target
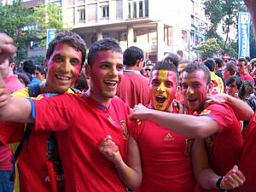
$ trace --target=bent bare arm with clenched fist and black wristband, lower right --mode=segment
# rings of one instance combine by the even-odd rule
[[[216,183],[221,177],[214,172],[208,164],[207,151],[204,140],[195,139],[192,147],[192,166],[197,183],[204,189],[218,189]],[[245,177],[234,166],[230,172],[221,180],[219,187],[221,189],[230,190],[241,186],[245,182]]]

